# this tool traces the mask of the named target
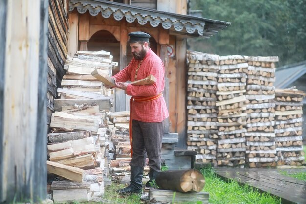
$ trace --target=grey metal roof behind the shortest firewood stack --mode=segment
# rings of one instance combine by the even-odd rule
[[[276,88],[288,88],[306,73],[306,61],[276,68],[274,86]]]

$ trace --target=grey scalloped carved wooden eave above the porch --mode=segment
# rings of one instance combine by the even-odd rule
[[[173,35],[209,38],[231,24],[224,21],[180,15],[105,0],[69,0],[69,11],[71,12],[75,8],[81,14],[88,10],[92,16],[101,13],[104,18],[109,18],[113,15],[113,18],[117,21],[121,21],[125,17],[128,23],[137,20],[141,25],[149,22],[152,27],[157,27],[161,24],[164,29],[170,29],[170,33]]]

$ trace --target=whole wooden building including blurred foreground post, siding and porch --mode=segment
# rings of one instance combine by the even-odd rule
[[[47,125],[67,56],[110,51],[119,62],[117,73],[132,57],[129,32],[152,36],[151,48],[166,67],[166,131],[178,133],[185,145],[186,38],[208,38],[230,25],[188,16],[187,2],[0,1],[0,203],[46,197]],[[127,101],[117,90],[114,110],[127,110]]]

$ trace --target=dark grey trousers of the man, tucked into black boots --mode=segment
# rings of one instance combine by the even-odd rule
[[[164,134],[164,122],[132,121],[132,150],[131,166],[144,167],[146,156],[149,166],[155,171],[161,170],[161,140]]]

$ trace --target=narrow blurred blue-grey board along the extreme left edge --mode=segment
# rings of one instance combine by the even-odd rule
[[[6,197],[3,194],[3,103],[4,103],[4,65],[5,65],[5,45],[6,45],[6,11],[7,0],[0,1],[0,203],[5,201]]]

